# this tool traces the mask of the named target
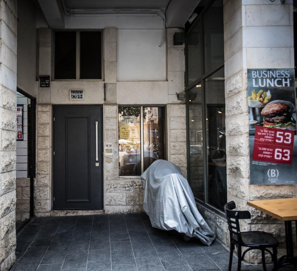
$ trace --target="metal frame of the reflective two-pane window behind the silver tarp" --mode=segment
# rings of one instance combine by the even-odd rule
[[[163,116],[163,118],[164,118],[164,136],[163,136],[163,140],[162,140],[162,142],[163,142],[163,145],[164,145],[164,158],[166,159],[166,136],[167,136],[167,134],[166,134],[166,132],[165,132],[165,130],[166,130],[166,110],[165,110],[165,108],[166,108],[166,105],[164,105],[164,104],[154,104],[154,105],[152,105],[152,104],[144,104],[144,105],[131,105],[131,104],[129,104],[129,105],[118,105],[118,107],[140,107],[140,154],[141,154],[141,174],[144,172],[144,144],[143,144],[143,108],[144,107],[163,107],[164,108],[164,116]],[[119,136],[118,136],[118,140],[117,141],[119,141]],[[119,151],[119,150],[118,150]],[[118,161],[118,163],[119,163],[120,161]],[[120,176],[120,174],[119,174],[119,171],[118,171],[118,178],[140,178],[141,177],[141,175],[125,175],[125,176]]]

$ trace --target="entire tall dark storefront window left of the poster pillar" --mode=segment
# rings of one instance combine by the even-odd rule
[[[198,11],[198,9],[200,10]],[[185,37],[188,180],[197,201],[227,202],[223,0],[201,1]]]

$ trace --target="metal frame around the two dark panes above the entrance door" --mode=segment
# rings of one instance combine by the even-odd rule
[[[56,32],[76,32],[76,78],[75,79],[55,79],[55,33]],[[101,79],[81,79],[80,78],[80,57],[81,57],[81,32],[101,33]],[[54,29],[52,31],[52,81],[104,81],[104,41],[103,29]]]

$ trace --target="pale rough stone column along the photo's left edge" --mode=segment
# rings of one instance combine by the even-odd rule
[[[0,1],[0,270],[15,261],[17,1]]]

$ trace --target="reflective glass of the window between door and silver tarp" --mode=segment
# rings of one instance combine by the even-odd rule
[[[118,107],[119,176],[140,176],[165,158],[164,112],[164,107]]]

